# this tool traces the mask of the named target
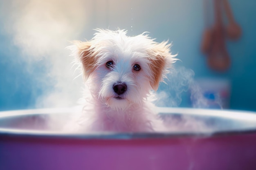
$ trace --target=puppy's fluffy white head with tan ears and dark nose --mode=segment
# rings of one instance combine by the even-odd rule
[[[124,30],[97,31],[92,40],[70,46],[85,80],[90,79],[92,94],[114,109],[140,104],[175,62],[170,44],[157,43],[145,33],[128,37]]]

